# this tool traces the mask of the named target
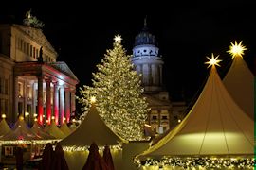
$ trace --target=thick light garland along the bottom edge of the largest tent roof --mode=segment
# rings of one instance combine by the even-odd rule
[[[161,160],[147,159],[139,161],[135,159],[138,167],[156,166],[163,168],[164,166],[183,167],[184,169],[192,169],[194,167],[206,169],[253,169],[255,166],[254,158],[179,158],[179,157],[163,157]]]

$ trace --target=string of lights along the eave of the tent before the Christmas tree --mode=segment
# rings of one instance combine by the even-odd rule
[[[77,146],[77,145],[72,145],[72,146],[63,146],[63,150],[66,152],[89,152],[89,145],[84,145],[84,146]],[[99,146],[99,151],[102,152],[104,150],[104,146]],[[121,144],[118,145],[110,145],[109,148],[113,151],[119,151],[122,150]]]

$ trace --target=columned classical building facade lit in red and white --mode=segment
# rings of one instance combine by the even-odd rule
[[[42,29],[0,26],[0,114],[9,122],[24,115],[28,124],[69,122],[76,110],[78,78],[47,41]]]

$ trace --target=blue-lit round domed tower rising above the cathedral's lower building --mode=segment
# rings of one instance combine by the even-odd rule
[[[162,90],[163,60],[159,57],[159,48],[156,46],[155,36],[149,32],[147,21],[137,35],[133,48],[133,58],[137,73],[141,74],[141,82],[146,93]]]

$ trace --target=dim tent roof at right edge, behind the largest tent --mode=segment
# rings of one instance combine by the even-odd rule
[[[254,120],[254,76],[244,59],[233,59],[223,83],[235,102]]]

